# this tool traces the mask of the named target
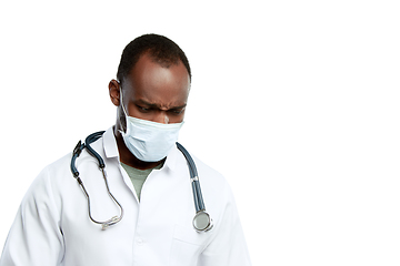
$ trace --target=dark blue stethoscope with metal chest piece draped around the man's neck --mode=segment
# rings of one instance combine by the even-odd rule
[[[106,170],[104,170],[106,168],[104,161],[90,146],[90,144],[93,143],[94,141],[97,141],[99,137],[101,137],[101,135],[103,133],[104,133],[104,131],[96,132],[93,134],[90,134],[84,140],[84,143],[82,143],[81,141],[78,142],[77,146],[73,149],[73,152],[72,152],[71,172],[72,172],[73,177],[77,180],[78,184],[82,188],[82,191],[83,191],[83,193],[84,193],[84,195],[86,195],[86,197],[88,200],[89,218],[93,223],[101,225],[101,228],[104,231],[108,227],[110,227],[111,225],[114,225],[114,224],[119,223],[122,219],[122,217],[123,217],[123,208],[122,208],[121,204],[117,201],[117,198],[110,192],[110,187],[108,185],[107,174],[106,174]],[[82,180],[79,177],[79,172],[78,172],[78,170],[76,167],[76,161],[77,161],[77,158],[79,157],[79,155],[81,154],[81,152],[83,151],[84,147],[88,150],[88,153],[90,155],[92,155],[93,157],[97,158],[97,161],[99,163],[99,168],[100,168],[100,171],[102,173],[102,176],[104,178],[107,192],[108,192],[109,196],[111,197],[111,200],[117,204],[117,206],[120,209],[120,214],[118,216],[113,216],[110,219],[107,219],[107,221],[103,221],[103,222],[99,222],[99,221],[97,221],[97,219],[94,219],[92,217],[91,209],[90,209],[90,197],[89,197],[88,191],[84,188]],[[192,185],[192,193],[193,193],[194,207],[196,207],[196,215],[193,217],[192,225],[193,225],[194,229],[198,233],[208,232],[208,231],[210,231],[212,228],[213,224],[212,224],[212,218],[206,212],[206,206],[204,206],[204,202],[203,202],[202,194],[201,194],[200,182],[199,182],[199,176],[198,176],[198,172],[197,172],[197,168],[196,168],[194,161],[190,156],[189,152],[181,144],[179,144],[178,142],[177,142],[177,147],[179,149],[179,151],[182,152],[184,158],[187,160],[188,167],[189,167],[190,182],[191,182],[191,185]]]

